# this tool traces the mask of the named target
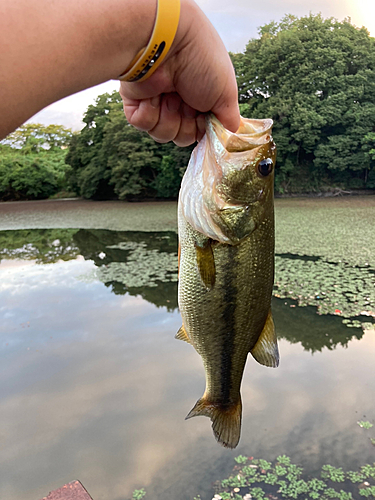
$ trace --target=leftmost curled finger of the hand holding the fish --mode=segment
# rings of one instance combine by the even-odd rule
[[[159,121],[160,96],[141,101],[123,98],[124,112],[128,122],[139,130],[148,132]]]

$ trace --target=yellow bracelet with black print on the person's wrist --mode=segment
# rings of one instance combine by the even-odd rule
[[[180,0],[158,0],[155,26],[147,47],[136,55],[118,79],[142,82],[149,78],[171,48],[179,19]]]

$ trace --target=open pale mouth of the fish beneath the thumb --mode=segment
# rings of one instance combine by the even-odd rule
[[[214,114],[207,116],[207,129],[212,139],[216,143],[219,141],[228,153],[241,153],[269,143],[272,140],[272,126],[273,120],[270,118],[256,120],[241,117],[238,130],[231,132]]]

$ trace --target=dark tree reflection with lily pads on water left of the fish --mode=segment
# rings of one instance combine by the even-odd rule
[[[27,243],[26,243],[27,242]],[[49,264],[82,255],[95,263],[84,279],[99,279],[116,295],[141,295],[177,309],[177,235],[87,229],[32,229],[0,232],[0,262]]]

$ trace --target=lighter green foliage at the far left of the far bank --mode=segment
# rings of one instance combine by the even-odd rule
[[[22,125],[0,144],[0,200],[48,198],[65,186],[66,145],[59,125]]]

